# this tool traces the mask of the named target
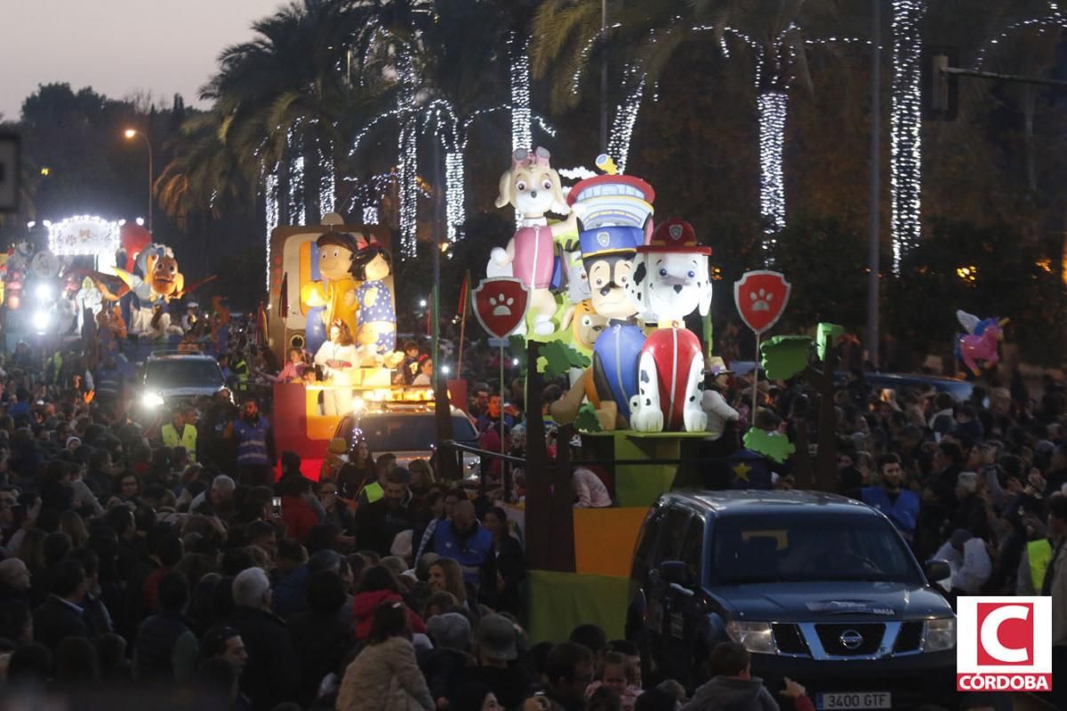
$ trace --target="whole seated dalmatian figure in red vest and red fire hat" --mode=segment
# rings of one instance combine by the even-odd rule
[[[703,432],[701,408],[704,361],[700,341],[683,323],[695,310],[711,308],[707,273],[711,248],[697,244],[692,227],[671,219],[659,225],[649,244],[637,248],[628,285],[642,318],[656,321],[638,359],[638,392],[631,399],[631,427],[638,432]]]

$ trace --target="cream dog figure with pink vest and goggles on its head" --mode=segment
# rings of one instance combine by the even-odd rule
[[[534,333],[548,336],[556,330],[552,317],[556,298],[548,290],[555,268],[555,238],[577,231],[577,217],[563,197],[559,174],[548,164],[544,148],[534,152],[519,149],[511,157],[511,169],[500,176],[496,207],[512,206],[522,214],[522,225],[505,249],[494,247],[488,272],[500,273],[509,265],[511,275],[530,290]],[[547,212],[568,215],[567,222],[552,227]]]

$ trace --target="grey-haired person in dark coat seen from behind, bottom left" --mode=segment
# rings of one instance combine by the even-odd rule
[[[241,691],[256,711],[270,711],[300,695],[300,660],[285,623],[271,613],[270,580],[261,568],[249,568],[234,579],[236,629],[249,652]]]

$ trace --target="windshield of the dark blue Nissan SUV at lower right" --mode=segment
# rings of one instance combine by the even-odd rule
[[[922,583],[901,537],[878,516],[721,516],[713,535],[710,563],[717,583]]]

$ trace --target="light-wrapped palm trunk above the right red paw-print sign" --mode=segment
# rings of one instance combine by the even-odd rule
[[[773,262],[775,236],[785,227],[785,178],[782,146],[789,94],[782,90],[761,92],[757,98],[760,117],[760,214],[763,217],[764,260]]]

